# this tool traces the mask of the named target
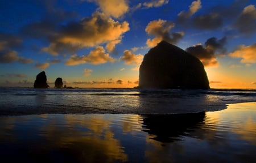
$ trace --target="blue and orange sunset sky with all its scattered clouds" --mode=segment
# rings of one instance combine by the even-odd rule
[[[211,88],[256,88],[256,0],[2,0],[0,87],[45,71],[67,87],[133,88],[165,40],[195,55]]]

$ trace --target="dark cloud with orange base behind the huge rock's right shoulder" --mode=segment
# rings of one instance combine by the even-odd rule
[[[195,45],[186,49],[188,53],[199,58],[204,66],[218,66],[217,55],[223,55],[226,52],[224,45],[226,44],[226,37],[217,40],[217,38],[209,38],[205,45]],[[218,53],[218,54],[217,54]]]

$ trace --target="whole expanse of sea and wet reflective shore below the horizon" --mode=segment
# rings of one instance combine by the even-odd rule
[[[3,162],[255,162],[256,90],[0,88]]]

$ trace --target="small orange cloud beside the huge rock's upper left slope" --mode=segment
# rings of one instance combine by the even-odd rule
[[[121,59],[125,61],[126,65],[140,65],[143,59],[143,55],[135,55],[131,53],[130,50],[125,50]]]

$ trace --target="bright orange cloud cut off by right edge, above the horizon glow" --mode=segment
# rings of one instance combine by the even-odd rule
[[[236,50],[229,53],[229,57],[242,58],[241,63],[256,63],[256,43],[253,45],[245,46],[239,45]]]

